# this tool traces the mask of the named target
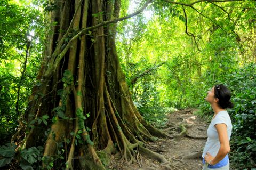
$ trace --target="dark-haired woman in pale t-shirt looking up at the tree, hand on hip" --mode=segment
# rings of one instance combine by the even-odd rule
[[[205,98],[211,104],[214,115],[207,129],[208,138],[202,155],[203,170],[229,169],[232,124],[226,108],[233,108],[230,98],[230,90],[222,84],[212,87]]]

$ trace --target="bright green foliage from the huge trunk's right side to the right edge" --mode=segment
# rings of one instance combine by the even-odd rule
[[[163,120],[165,115],[160,108],[198,106],[199,115],[209,121],[212,110],[204,100],[207,91],[215,84],[226,84],[233,91],[235,102],[235,108],[229,110],[234,126],[231,161],[237,167],[250,168],[247,158],[255,157],[255,64],[247,63],[255,62],[255,3],[203,2],[194,7],[197,12],[154,2],[150,19],[139,16],[143,22],[138,19],[119,26],[130,34],[117,35],[117,50],[133,101],[150,121]],[[190,36],[185,34],[186,29]],[[132,30],[137,31],[133,34]],[[133,77],[160,62],[165,64],[131,85]],[[245,143],[239,145],[241,141]],[[241,154],[236,156],[237,153]]]

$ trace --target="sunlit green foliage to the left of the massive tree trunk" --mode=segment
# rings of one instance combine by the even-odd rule
[[[25,2],[2,0],[0,15],[0,144],[4,144],[27,107],[41,60],[44,26],[42,13]]]

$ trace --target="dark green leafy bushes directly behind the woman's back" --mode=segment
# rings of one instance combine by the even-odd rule
[[[236,160],[236,168],[253,168],[252,158],[256,157],[256,64],[246,64],[239,71],[226,78],[233,90],[235,107],[230,110],[233,119],[233,136],[231,147]],[[238,154],[236,154],[238,153]],[[243,157],[241,157],[243,155]],[[247,159],[249,158],[249,159]],[[249,160],[249,161],[248,161]],[[255,161],[255,160],[254,160]],[[255,167],[254,167],[255,168]]]

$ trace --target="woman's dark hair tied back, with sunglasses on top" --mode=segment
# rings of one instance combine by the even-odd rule
[[[231,92],[223,84],[218,84],[214,86],[214,97],[219,99],[219,106],[222,109],[233,108],[234,104],[230,101]]]

